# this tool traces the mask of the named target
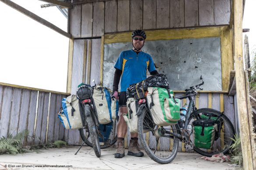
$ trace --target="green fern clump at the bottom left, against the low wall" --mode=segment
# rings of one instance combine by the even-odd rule
[[[7,137],[0,138],[0,154],[17,154],[17,153],[28,153],[30,150],[22,147],[23,140],[28,136],[28,130],[23,130],[16,136],[8,134]]]

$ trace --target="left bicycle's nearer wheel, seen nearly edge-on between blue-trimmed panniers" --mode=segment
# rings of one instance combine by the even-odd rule
[[[93,150],[97,157],[101,156],[101,148],[98,139],[97,126],[95,124],[95,120],[93,119],[93,115],[91,113],[91,109],[89,105],[84,105],[84,113],[90,113],[90,116],[86,116],[86,122],[88,125],[88,130],[91,137],[91,144],[93,146]],[[87,114],[85,114],[87,115]]]

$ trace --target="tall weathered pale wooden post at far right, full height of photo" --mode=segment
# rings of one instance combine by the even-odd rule
[[[253,170],[252,146],[250,142],[248,108],[245,93],[245,75],[243,69],[242,51],[242,16],[243,1],[234,0],[234,43],[235,43],[235,79],[237,89],[238,118],[243,154],[243,167],[245,170]]]

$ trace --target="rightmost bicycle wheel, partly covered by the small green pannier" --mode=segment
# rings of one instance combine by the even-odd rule
[[[192,114],[193,116],[193,114]],[[194,151],[197,153],[203,155],[203,156],[213,156],[217,153],[227,153],[229,150],[229,146],[232,145],[233,140],[231,138],[234,138],[235,129],[228,119],[227,116],[222,114],[221,112],[209,109],[209,108],[203,108],[196,110],[196,116],[199,119],[217,119],[218,116],[220,116],[217,119],[217,126],[218,126],[218,132],[215,133],[215,140],[213,143],[213,146],[211,149],[203,149],[198,147],[193,147]],[[196,120],[195,117],[190,117],[189,124],[192,125],[192,122]],[[190,140],[192,143],[193,141],[193,133],[190,136]]]

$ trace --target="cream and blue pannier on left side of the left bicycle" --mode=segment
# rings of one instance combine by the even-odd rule
[[[83,127],[79,110],[79,100],[76,95],[70,95],[62,99],[62,111],[58,118],[65,129],[80,129]]]

